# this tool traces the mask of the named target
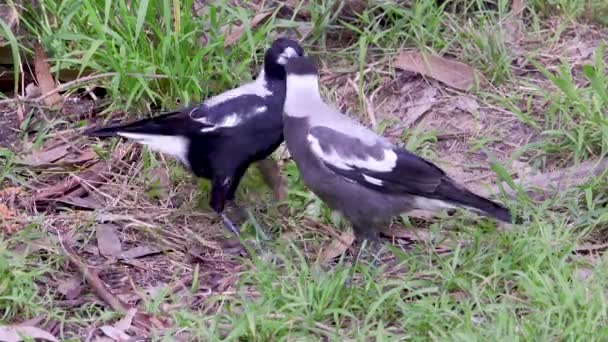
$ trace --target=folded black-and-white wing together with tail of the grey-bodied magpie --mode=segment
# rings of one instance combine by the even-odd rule
[[[368,144],[323,126],[312,127],[307,140],[323,165],[347,181],[385,194],[412,196],[418,209],[467,207],[511,222],[508,209],[472,193],[437,166],[384,140]]]

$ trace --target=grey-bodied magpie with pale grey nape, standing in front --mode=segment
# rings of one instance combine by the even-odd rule
[[[503,206],[327,105],[319,93],[317,68],[308,58],[290,59],[286,70],[287,149],[304,183],[352,223],[359,240],[377,241],[381,225],[412,209],[462,207],[511,222]]]

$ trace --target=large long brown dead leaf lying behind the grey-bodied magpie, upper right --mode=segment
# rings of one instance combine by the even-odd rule
[[[484,85],[483,75],[472,67],[434,55],[422,55],[418,51],[404,51],[394,61],[395,67],[436,79],[459,90],[468,90],[479,81]]]

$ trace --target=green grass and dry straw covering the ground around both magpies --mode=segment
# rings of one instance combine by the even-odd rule
[[[116,110],[140,116],[151,108],[174,108],[251,79],[256,71],[252,66],[261,62],[270,36],[310,24],[304,46],[325,62],[324,75],[333,76],[324,84],[326,97],[364,122],[369,122],[368,101],[378,89],[372,101],[376,115],[383,101],[403,101],[401,83],[407,79],[391,65],[402,49],[417,48],[479,69],[492,87],[468,95],[480,103],[479,113],[471,116],[481,128],[473,133],[442,141],[444,134],[453,133],[445,123],[458,124],[467,116],[458,109],[442,112],[441,106],[451,108],[450,101],[463,94],[433,81],[430,84],[440,89],[439,108],[432,110],[439,119],[404,129],[396,116],[378,120],[376,127],[389,134],[397,126],[396,141],[431,160],[463,164],[465,178],[515,186],[517,170],[509,168],[514,160],[550,171],[606,156],[605,44],[593,38],[594,56],[582,62],[567,56],[565,49],[553,49],[574,44],[569,35],[573,26],[580,29],[577,36],[585,38],[586,28],[589,36],[606,37],[600,34],[605,23],[588,13],[588,8],[601,13],[603,2],[527,3],[521,28],[532,43],[521,45],[505,25],[513,16],[506,1],[494,6],[469,0],[421,0],[411,6],[370,3],[356,13],[331,0],[300,4],[288,16],[277,10],[255,29],[246,29],[229,49],[224,49],[222,29],[247,22],[255,10],[224,1],[206,5],[200,15],[192,13],[192,0],[137,0],[130,5],[44,1],[38,8],[24,8],[21,25],[52,56],[56,76],[64,69],[81,75],[114,73],[98,83],[112,100],[108,116]],[[304,10],[308,22],[301,16]],[[560,20],[562,24],[556,24]],[[207,41],[202,46],[201,36]],[[31,54],[23,36],[11,37],[8,43],[20,49],[22,59]],[[40,129],[44,133],[34,137],[36,144],[52,139],[55,129],[82,124],[49,117],[51,122]],[[117,145],[100,144],[95,150],[107,157],[107,150]],[[0,150],[3,188],[25,187],[35,180],[52,183],[71,173],[28,170],[16,163],[19,153]],[[155,178],[152,171],[157,169],[167,170],[170,189]],[[476,173],[478,169],[483,172]],[[16,234],[0,233],[0,322],[20,322],[46,312],[45,322],[58,322],[61,336],[74,340],[89,327],[113,324],[119,315],[95,302],[61,307],[61,294],[49,284],[74,273],[60,257],[55,234],[74,232],[86,245],[94,239],[92,217],[118,212],[154,227],[128,221],[121,225],[125,241],[155,241],[173,248],[159,259],[170,267],[155,264],[156,259],[142,261],[164,290],[144,296],[140,309],[173,322],[159,340],[172,340],[171,333],[182,331],[209,341],[601,341],[608,336],[608,265],[601,246],[594,247],[606,242],[608,231],[606,175],[541,200],[524,193],[506,200],[528,220],[508,230],[468,213],[395,222],[420,238],[399,240],[405,247],[396,247],[390,262],[375,267],[350,255],[330,264],[316,262],[348,224],[307,191],[293,162],[284,163],[283,173],[290,217],[281,220],[265,208],[255,211],[256,224],[267,228],[273,239],[253,237],[263,248],[254,250],[251,258],[230,261],[226,269],[220,262],[191,262],[184,252],[191,243],[207,246],[211,240],[208,230],[214,226],[196,216],[204,211],[200,207],[206,205],[201,203],[207,201],[208,185],[202,182],[188,190],[191,178],[180,166],[147,150],[117,171],[110,190],[124,192],[115,196],[115,208],[89,212],[86,219],[74,210],[26,211],[32,224]],[[257,208],[267,201],[267,192],[251,170],[239,196]],[[167,204],[178,197],[181,204]],[[0,196],[0,204],[8,203],[2,201]],[[252,231],[252,225],[246,230]],[[53,248],[19,253],[17,246],[49,236]],[[85,255],[84,248],[79,252]],[[123,274],[111,263],[100,265],[108,282],[114,274]],[[183,274],[195,279],[187,293],[169,291],[169,284]],[[139,273],[127,275],[144,293],[146,283],[137,278]],[[214,287],[218,277],[229,285]],[[195,300],[184,299],[191,296]]]

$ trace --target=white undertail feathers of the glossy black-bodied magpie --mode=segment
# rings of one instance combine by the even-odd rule
[[[120,132],[118,135],[133,140],[136,143],[146,145],[152,151],[176,157],[182,163],[186,164],[186,166],[190,167],[190,163],[188,162],[188,147],[190,146],[190,142],[184,137],[126,132]]]

